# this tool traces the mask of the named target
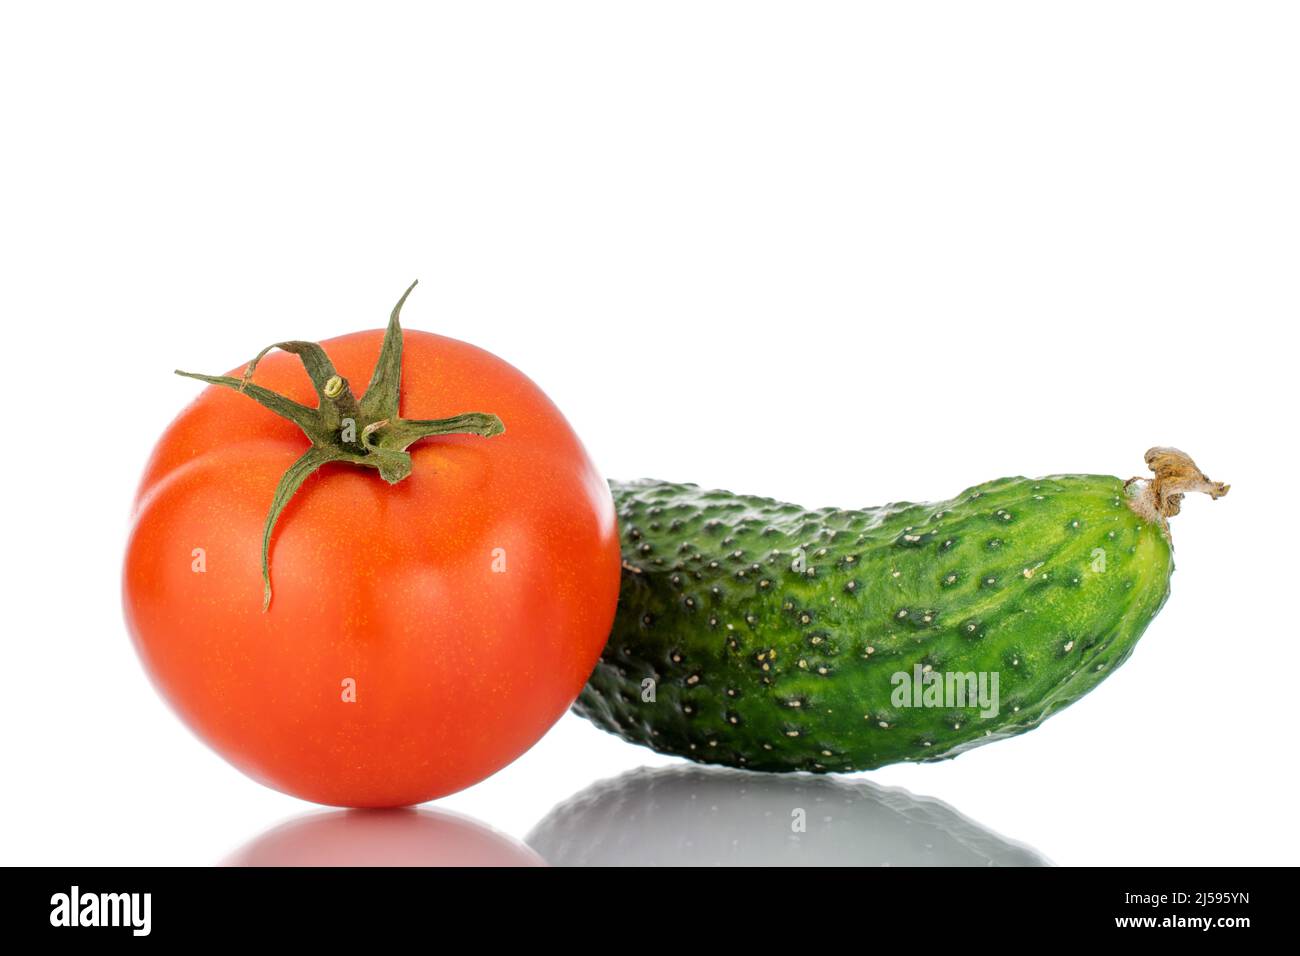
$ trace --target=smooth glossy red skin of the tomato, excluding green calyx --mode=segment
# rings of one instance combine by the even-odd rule
[[[321,345],[360,393],[382,338]],[[256,381],[316,405],[291,355],[268,355]],[[402,415],[469,411],[498,415],[504,434],[417,442],[394,485],[347,464],[308,479],[276,528],[265,613],[263,524],[307,438],[209,386],[159,441],[126,550],[126,622],[172,706],[250,777],[338,806],[422,803],[510,763],[582,688],[618,602],[608,486],[524,375],[407,332]]]

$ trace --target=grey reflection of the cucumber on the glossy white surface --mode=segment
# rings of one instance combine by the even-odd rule
[[[597,783],[551,810],[528,845],[552,866],[1050,866],[901,788],[699,766]]]

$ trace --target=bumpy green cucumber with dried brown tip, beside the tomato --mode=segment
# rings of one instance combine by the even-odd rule
[[[1122,665],[1169,596],[1167,516],[1214,498],[1176,449],[1148,481],[1011,477],[845,511],[611,483],[624,574],[573,709],[660,753],[870,770],[1022,734]]]

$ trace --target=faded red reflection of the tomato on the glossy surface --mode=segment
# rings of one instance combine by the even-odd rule
[[[445,810],[328,810],[272,827],[226,866],[545,866],[528,847]]]

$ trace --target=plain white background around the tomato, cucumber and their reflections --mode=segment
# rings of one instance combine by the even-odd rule
[[[312,809],[146,679],[130,499],[173,368],[415,277],[406,325],[615,477],[862,506],[1184,447],[1232,493],[1123,670],[870,779],[1060,864],[1296,861],[1295,5],[3,9],[3,862],[205,865]],[[569,715],[438,805],[523,838],[667,762]]]

